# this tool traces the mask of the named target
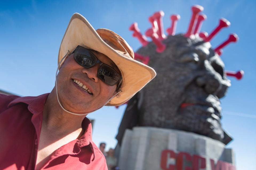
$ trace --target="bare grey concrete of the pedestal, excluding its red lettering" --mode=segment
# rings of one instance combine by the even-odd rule
[[[125,131],[119,167],[122,170],[160,170],[161,153],[166,149],[202,156],[206,160],[205,170],[212,169],[210,159],[215,165],[219,160],[235,165],[233,150],[225,148],[220,141],[180,130],[135,127]],[[168,159],[167,164],[175,162],[175,159]],[[184,165],[190,167],[191,162],[184,161]]]

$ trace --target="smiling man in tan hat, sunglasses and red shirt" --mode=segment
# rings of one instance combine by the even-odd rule
[[[125,103],[155,71],[108,29],[75,13],[62,39],[56,81],[37,97],[0,95],[0,169],[107,169],[86,115]]]

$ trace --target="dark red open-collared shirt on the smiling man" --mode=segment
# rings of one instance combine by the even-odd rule
[[[37,97],[0,94],[0,169],[35,169],[43,106],[49,93]],[[42,169],[107,170],[106,160],[91,137],[91,122],[82,122],[85,133],[58,148]]]

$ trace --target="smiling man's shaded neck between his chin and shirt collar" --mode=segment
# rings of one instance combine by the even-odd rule
[[[55,88],[47,97],[43,109],[42,126],[57,133],[71,133],[81,129],[85,115],[77,116],[64,111],[57,100]]]

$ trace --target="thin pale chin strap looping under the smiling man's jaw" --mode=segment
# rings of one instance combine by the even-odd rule
[[[65,56],[61,59],[61,61],[59,62],[58,68],[57,68],[56,74],[55,74],[55,86],[56,86],[56,95],[57,95],[58,103],[59,103],[59,105],[61,106],[61,108],[62,108],[65,112],[70,113],[70,114],[74,114],[74,115],[78,115],[78,116],[87,115],[87,114],[89,114],[89,113],[91,113],[91,112],[94,112],[94,111],[96,111],[96,110],[102,108],[103,106],[105,106],[111,99],[113,99],[116,95],[118,95],[118,94],[121,92],[121,90],[119,90],[115,95],[113,95],[112,97],[110,97],[110,99],[109,99],[102,107],[100,107],[100,108],[98,108],[98,109],[95,109],[94,111],[90,111],[90,112],[86,112],[86,113],[79,114],[79,113],[73,113],[73,112],[70,112],[70,111],[66,110],[66,109],[61,105],[61,102],[59,101],[58,90],[57,90],[57,74],[58,74],[58,70],[59,70],[59,66],[60,66],[61,62],[64,60],[64,58],[67,57],[67,54],[68,54],[68,53],[69,53],[69,50],[68,50],[68,52],[66,53],[66,55],[65,55]]]

